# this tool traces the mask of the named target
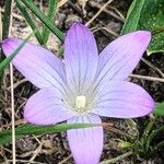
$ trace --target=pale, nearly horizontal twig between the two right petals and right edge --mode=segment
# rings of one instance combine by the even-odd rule
[[[162,82],[162,83],[164,83],[164,79],[162,79],[162,78],[147,77],[147,75],[140,75],[140,74],[130,74],[129,77],[130,78],[142,79],[142,80],[148,80],[148,81],[154,81],[154,82]]]

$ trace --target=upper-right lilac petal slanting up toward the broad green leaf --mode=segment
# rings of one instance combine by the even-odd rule
[[[150,32],[137,31],[112,42],[99,55],[96,82],[125,80],[138,65],[150,40]]]

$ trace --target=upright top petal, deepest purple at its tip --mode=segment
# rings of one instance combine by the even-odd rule
[[[97,68],[97,47],[91,31],[80,23],[73,24],[65,42],[65,63],[69,86],[83,92]]]

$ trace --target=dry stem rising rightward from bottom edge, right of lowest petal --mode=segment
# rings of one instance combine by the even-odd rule
[[[125,159],[125,157],[127,157],[127,156],[130,156],[131,154],[132,154],[132,151],[129,151],[129,152],[127,152],[127,153],[125,153],[125,154],[121,154],[121,155],[119,155],[119,156],[117,156],[117,157],[103,161],[103,162],[101,162],[99,164],[116,163],[117,161],[120,161],[120,160],[122,160],[122,159]]]

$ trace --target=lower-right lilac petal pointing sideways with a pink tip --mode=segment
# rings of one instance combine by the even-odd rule
[[[94,114],[105,117],[133,118],[151,113],[154,101],[141,86],[110,81],[97,90]]]

